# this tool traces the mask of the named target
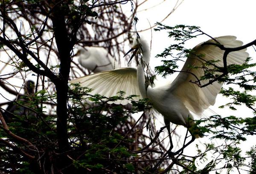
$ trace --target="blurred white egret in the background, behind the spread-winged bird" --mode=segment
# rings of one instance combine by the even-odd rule
[[[120,68],[119,62],[102,47],[81,48],[76,54],[79,64],[93,73]]]

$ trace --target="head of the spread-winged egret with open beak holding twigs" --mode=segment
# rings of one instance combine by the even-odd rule
[[[148,47],[148,43],[144,39],[136,37],[133,41],[131,49],[125,54],[125,56],[131,51],[134,52],[132,53],[128,64],[131,62],[131,59],[137,54],[143,54],[143,62],[148,64],[150,58],[150,49]]]

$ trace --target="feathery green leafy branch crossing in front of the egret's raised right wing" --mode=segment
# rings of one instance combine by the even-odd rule
[[[256,44],[256,40],[253,42],[250,42],[246,45],[243,45],[238,48],[225,48],[223,45],[221,45],[216,39],[212,38],[208,34],[201,31],[199,27],[196,26],[187,26],[187,25],[176,25],[175,27],[170,27],[163,25],[161,23],[158,23],[158,28],[155,29],[155,31],[161,31],[161,30],[167,30],[169,33],[169,37],[173,38],[175,41],[177,41],[177,44],[172,44],[168,48],[166,48],[163,53],[158,54],[156,57],[171,57],[172,59],[169,60],[162,60],[163,65],[155,67],[155,70],[157,73],[162,74],[163,77],[165,77],[168,74],[173,74],[175,72],[180,72],[177,70],[179,67],[177,65],[177,62],[184,61],[184,58],[190,57],[192,55],[198,57],[198,59],[202,60],[202,65],[200,67],[192,67],[192,68],[201,68],[204,70],[204,76],[197,77],[198,81],[195,81],[196,84],[198,84],[201,87],[205,87],[209,84],[212,84],[215,81],[227,81],[232,83],[235,83],[234,81],[240,80],[241,82],[237,82],[236,84],[239,84],[241,87],[247,87],[247,89],[252,89],[253,85],[249,85],[249,82],[254,82],[253,79],[246,78],[247,76],[250,76],[250,78],[254,77],[254,73],[249,70],[249,68],[252,68],[255,66],[255,64],[249,64],[250,58],[247,59],[247,61],[244,62],[242,65],[227,65],[227,55],[230,52],[233,51],[239,51],[244,48],[253,46]],[[185,48],[185,43],[189,41],[190,39],[193,39],[200,35],[206,35],[209,36],[211,39],[213,39],[216,43],[210,43],[205,42],[202,45],[215,45],[219,47],[221,50],[224,50],[224,56],[223,56],[223,67],[219,67],[215,65],[217,63],[216,60],[204,60],[205,55],[195,55],[195,53],[191,49]],[[229,79],[228,73],[231,75],[238,75],[239,73],[244,73],[241,76],[237,76],[236,79]],[[201,85],[200,81],[203,80],[209,80],[207,84]]]

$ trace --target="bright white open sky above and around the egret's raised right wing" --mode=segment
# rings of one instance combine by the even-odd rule
[[[151,7],[159,2],[162,2],[162,0],[151,0],[143,8],[139,8],[139,11],[144,9],[145,6]],[[148,28],[148,21],[152,26],[154,23],[163,20],[172,10],[172,7],[175,6],[175,3],[176,0],[165,0],[160,6],[138,12],[137,30],[140,31],[141,29]],[[162,23],[170,26],[179,24],[196,25],[201,27],[201,30],[210,36],[233,35],[246,44],[256,39],[255,7],[255,0],[184,0],[174,13]],[[148,41],[151,40],[151,31],[145,31],[141,35],[148,39]],[[190,41],[187,48],[193,48],[195,45],[208,39],[206,36],[200,36]],[[161,64],[160,60],[153,57],[171,44],[172,40],[167,38],[165,31],[152,31],[151,67]],[[254,58],[253,62],[256,62],[256,53],[253,48],[248,48],[247,52]],[[172,76],[171,79],[174,79],[174,77]],[[237,111],[232,111],[228,108],[218,108],[218,106],[227,103],[227,101],[226,98],[218,95],[216,103],[211,109],[224,116],[253,116],[252,112],[245,106],[237,107]],[[245,147],[248,150],[250,146],[255,144],[255,137],[248,137],[248,140],[242,142],[240,147]]]

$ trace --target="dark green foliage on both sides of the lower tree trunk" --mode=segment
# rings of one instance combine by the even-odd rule
[[[98,94],[89,95],[90,91],[90,89],[79,87],[76,84],[75,88],[70,90],[68,132],[71,149],[64,156],[70,158],[75,173],[106,173],[107,171],[132,173],[134,171],[133,163],[128,163],[127,160],[136,156],[129,150],[130,144],[134,140],[125,137],[122,132],[117,132],[117,127],[126,123],[131,113],[148,109],[148,101],[132,101],[134,96],[123,98],[122,91],[119,96],[110,98]],[[24,112],[26,115],[14,113],[15,118],[8,123],[9,129],[13,133],[30,140],[38,149],[47,147],[44,152],[39,152],[43,160],[48,157],[54,159],[63,157],[62,154],[54,153],[58,152],[55,146],[57,143],[56,117],[55,115],[45,115],[44,107],[39,107],[42,102],[55,100],[55,98],[55,94],[49,95],[46,90],[38,91],[30,97],[23,96],[20,101],[17,101],[17,105],[19,108],[28,109],[29,112]],[[132,101],[134,104],[132,110],[124,109],[122,105],[108,104],[109,101],[124,99]],[[93,107],[89,107],[84,100],[93,101],[95,104]],[[6,137],[3,129],[0,129],[0,137]],[[29,154],[37,155],[37,152],[29,151],[22,143],[9,140],[15,142],[15,145]],[[35,172],[33,163],[27,161],[26,158],[17,156],[12,153],[11,149],[2,146],[1,150],[9,154],[1,156],[3,165],[8,166],[8,161],[11,158],[16,158],[16,170],[20,169],[21,173]],[[15,168],[12,169],[15,171]]]

